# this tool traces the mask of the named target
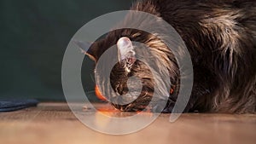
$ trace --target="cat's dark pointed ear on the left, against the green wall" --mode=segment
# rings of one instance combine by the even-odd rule
[[[91,43],[82,42],[82,41],[79,41],[79,40],[73,40],[73,43],[75,43],[76,45],[79,46],[79,48],[81,49],[81,52],[84,55],[88,55],[91,60],[96,61],[96,54],[93,52],[92,49],[90,49]]]

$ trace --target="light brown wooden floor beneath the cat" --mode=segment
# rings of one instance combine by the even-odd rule
[[[256,143],[256,115],[189,113],[175,123],[170,123],[169,117],[170,114],[161,114],[153,124],[130,135],[106,135],[87,128],[65,103],[40,103],[38,107],[0,113],[0,143]]]

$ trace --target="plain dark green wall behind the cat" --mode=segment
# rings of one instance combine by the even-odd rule
[[[131,0],[1,0],[0,98],[37,98],[64,101],[61,62],[74,33],[88,21],[129,9]],[[93,90],[90,72],[84,85]],[[84,72],[83,71],[83,72]],[[91,95],[91,100],[96,100]]]

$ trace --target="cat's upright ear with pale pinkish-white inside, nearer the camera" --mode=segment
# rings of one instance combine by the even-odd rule
[[[130,66],[137,60],[135,48],[131,43],[130,38],[120,37],[117,42],[119,62],[124,61]]]

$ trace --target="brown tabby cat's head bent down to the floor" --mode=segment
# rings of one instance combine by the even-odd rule
[[[112,50],[111,46],[114,46]],[[145,47],[132,43],[130,37],[118,37],[113,41],[107,37],[93,43],[86,53],[96,61],[97,87],[120,111],[137,112],[157,108],[159,101],[169,98],[170,93],[166,89],[171,89],[170,80],[173,83],[177,73],[172,72],[170,75],[168,56]],[[115,62],[110,65],[112,61]],[[174,64],[172,62],[172,70],[177,69]],[[168,71],[164,73],[166,67]],[[110,69],[109,72],[107,69]],[[160,73],[168,76],[162,78]],[[160,88],[156,88],[157,84]]]

